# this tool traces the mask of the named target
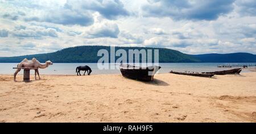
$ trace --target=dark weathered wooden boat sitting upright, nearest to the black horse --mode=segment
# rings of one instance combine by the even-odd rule
[[[154,75],[161,68],[160,66],[133,66],[129,64],[121,64],[119,66],[122,76],[140,81],[152,81]]]

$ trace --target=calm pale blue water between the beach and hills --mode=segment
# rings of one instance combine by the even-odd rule
[[[159,73],[168,73],[170,70],[184,72],[185,70],[191,72],[209,72],[216,70],[227,70],[230,68],[217,68],[217,65],[223,65],[225,63],[160,63],[159,65],[162,67],[159,70]],[[241,64],[241,65],[249,65],[256,63],[228,63],[228,64]],[[100,70],[97,67],[97,63],[55,63],[49,66],[46,69],[39,69],[40,74],[76,74],[76,67],[88,65],[92,68],[92,74],[120,74],[119,68],[117,69],[108,69],[108,70]],[[13,74],[15,69],[13,67],[17,66],[17,63],[0,63],[0,74]],[[112,64],[112,66],[115,66]],[[118,67],[118,65],[116,65]],[[255,68],[249,67],[249,68]],[[248,69],[243,69],[242,72],[249,72]],[[34,71],[32,71],[34,73]],[[22,74],[22,71],[19,72]],[[82,73],[81,73],[82,74]]]

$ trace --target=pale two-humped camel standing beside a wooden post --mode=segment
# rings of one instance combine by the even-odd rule
[[[20,62],[17,67],[29,67],[29,68],[37,68],[35,69],[35,79],[36,79],[36,73],[38,73],[38,77],[40,79],[39,76],[39,72],[38,69],[39,68],[47,68],[49,65],[52,65],[51,61],[46,61],[46,64],[41,64],[38,60],[36,60],[36,58],[32,58],[32,60],[27,60],[27,58],[24,58],[24,60],[22,62]],[[16,72],[14,73],[14,81],[16,81],[16,75],[19,73],[21,69],[16,69]]]

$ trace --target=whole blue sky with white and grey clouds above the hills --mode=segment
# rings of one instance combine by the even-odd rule
[[[0,56],[77,45],[256,54],[255,0],[0,0]]]

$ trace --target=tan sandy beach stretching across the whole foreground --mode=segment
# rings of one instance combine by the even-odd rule
[[[256,72],[157,74],[154,82],[121,74],[41,78],[0,75],[0,122],[256,122]]]

